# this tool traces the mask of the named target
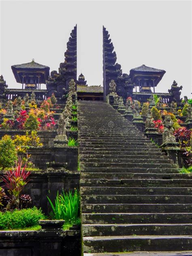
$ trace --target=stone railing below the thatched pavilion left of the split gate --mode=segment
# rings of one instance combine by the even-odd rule
[[[36,100],[46,100],[47,99],[47,90],[28,90],[28,89],[6,89],[5,96],[8,100],[14,100],[17,97],[23,98],[27,93],[29,96],[35,93]]]

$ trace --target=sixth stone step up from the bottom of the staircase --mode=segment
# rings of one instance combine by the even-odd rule
[[[191,195],[192,188],[81,187],[81,195]]]

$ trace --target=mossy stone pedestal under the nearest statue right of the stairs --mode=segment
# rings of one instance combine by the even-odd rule
[[[167,142],[167,143],[163,143],[161,147],[162,147],[162,151],[165,152],[166,155],[173,160],[174,164],[178,164],[177,154],[180,150],[179,143]]]

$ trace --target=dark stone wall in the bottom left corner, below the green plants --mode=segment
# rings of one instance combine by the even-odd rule
[[[1,231],[1,256],[80,256],[79,230]]]

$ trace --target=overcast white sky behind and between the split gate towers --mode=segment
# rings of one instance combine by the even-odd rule
[[[175,79],[191,98],[191,1],[1,0],[1,74],[21,88],[11,65],[35,62],[58,70],[77,23],[77,73],[102,85],[102,25],[111,35],[124,73],[151,66],[166,73],[156,87],[167,92]]]

